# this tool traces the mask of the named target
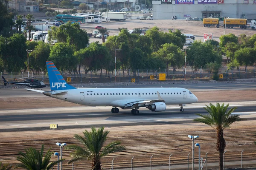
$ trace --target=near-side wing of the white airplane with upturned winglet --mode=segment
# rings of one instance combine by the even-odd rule
[[[119,100],[119,101],[114,101],[113,104],[119,105],[121,108],[136,108],[136,107],[146,107],[148,105],[153,104],[154,102],[164,102],[165,100],[160,96],[159,92],[157,91],[157,96],[158,99],[153,99],[153,100],[137,100],[137,101],[131,101],[131,102],[126,102],[126,100]]]

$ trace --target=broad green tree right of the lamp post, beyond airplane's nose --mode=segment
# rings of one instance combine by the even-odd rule
[[[186,63],[192,67],[193,73],[197,73],[209,62],[221,63],[221,55],[208,43],[195,41],[189,48],[190,50],[186,50]]]

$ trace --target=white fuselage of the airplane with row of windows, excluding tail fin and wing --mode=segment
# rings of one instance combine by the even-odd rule
[[[110,105],[124,108],[124,103],[158,99],[157,91],[166,105],[182,105],[198,101],[197,97],[185,88],[80,88],[52,91],[50,96],[81,105]],[[67,93],[59,95],[60,92]]]

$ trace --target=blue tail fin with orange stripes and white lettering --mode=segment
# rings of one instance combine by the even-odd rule
[[[50,87],[51,90],[68,90],[68,89],[76,89],[72,85],[67,84],[67,82],[63,79],[60,72],[56,68],[56,66],[51,61],[46,62]]]

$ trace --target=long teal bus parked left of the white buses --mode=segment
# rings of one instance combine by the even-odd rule
[[[64,14],[58,14],[55,17],[55,20],[57,20],[59,23],[67,23],[67,22],[72,22],[72,23],[86,23],[86,17],[81,17],[81,16],[75,16],[75,15],[64,15]]]

